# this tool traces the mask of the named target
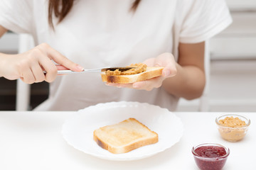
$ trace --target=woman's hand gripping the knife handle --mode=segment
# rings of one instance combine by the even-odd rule
[[[22,54],[0,54],[0,77],[10,80],[20,78],[26,84],[52,82],[58,70],[58,66],[52,60],[74,72],[81,72],[83,69],[48,44],[43,43]],[[46,71],[46,74],[43,71]]]

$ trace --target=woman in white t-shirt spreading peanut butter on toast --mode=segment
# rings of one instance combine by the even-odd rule
[[[2,0],[0,35],[30,33],[38,46],[23,54],[0,54],[0,77],[51,82],[48,100],[36,110],[139,101],[174,111],[178,98],[203,93],[204,42],[230,23],[223,0]],[[57,69],[80,72],[139,62],[165,67],[162,76],[109,86],[100,74],[56,77]]]

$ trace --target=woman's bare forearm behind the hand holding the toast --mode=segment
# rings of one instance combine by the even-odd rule
[[[176,64],[176,69],[176,76],[164,80],[164,89],[169,94],[188,100],[200,97],[206,84],[203,70],[196,66],[180,64]]]

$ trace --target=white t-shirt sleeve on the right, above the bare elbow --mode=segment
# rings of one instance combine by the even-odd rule
[[[191,0],[190,0],[191,1]],[[185,7],[186,4],[183,4]],[[179,42],[197,43],[208,40],[232,23],[224,0],[196,0],[183,13]]]

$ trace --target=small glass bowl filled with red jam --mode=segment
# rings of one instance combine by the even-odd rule
[[[230,149],[216,143],[204,143],[192,148],[196,165],[201,170],[220,170],[225,165]]]

